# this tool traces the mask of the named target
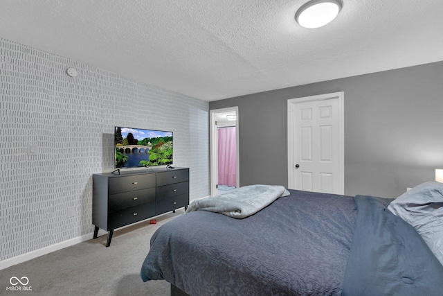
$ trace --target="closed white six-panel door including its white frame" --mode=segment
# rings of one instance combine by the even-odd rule
[[[344,193],[343,92],[288,101],[288,186]]]

